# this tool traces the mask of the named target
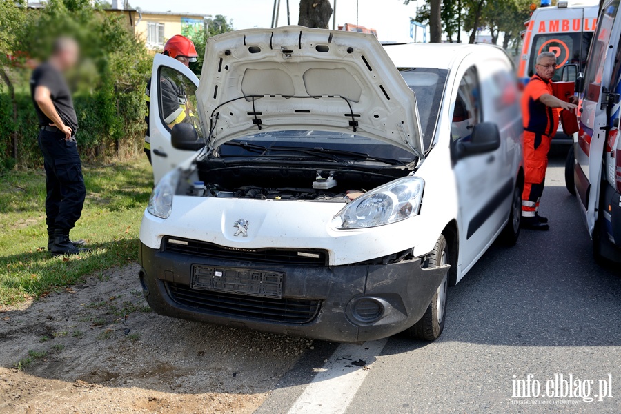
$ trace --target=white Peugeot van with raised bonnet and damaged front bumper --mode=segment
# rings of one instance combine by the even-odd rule
[[[205,61],[198,85],[154,59],[152,85],[184,82],[200,127],[171,132],[152,93],[149,305],[339,342],[436,339],[447,287],[520,233],[509,58],[288,26],[210,38]]]

